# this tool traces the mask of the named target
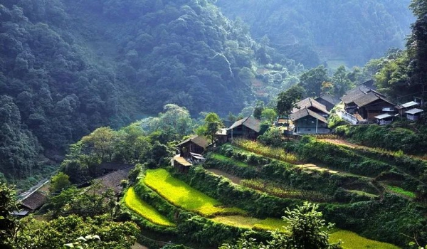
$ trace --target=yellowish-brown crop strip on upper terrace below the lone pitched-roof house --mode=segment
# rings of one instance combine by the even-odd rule
[[[285,161],[290,164],[298,163],[297,157],[294,154],[286,152],[284,149],[268,147],[259,142],[253,142],[245,139],[234,139],[233,144],[237,147],[241,147],[242,149],[246,149],[249,152],[263,155],[264,157]]]

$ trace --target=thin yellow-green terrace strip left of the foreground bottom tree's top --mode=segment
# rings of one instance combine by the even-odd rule
[[[279,218],[266,218],[261,220],[259,218],[246,216],[217,216],[211,220],[238,228],[253,228],[265,231],[275,231],[278,229],[279,231],[285,232],[287,231],[285,226],[288,226],[288,223]]]

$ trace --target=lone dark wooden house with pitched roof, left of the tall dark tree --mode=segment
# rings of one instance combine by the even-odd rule
[[[249,116],[241,120],[234,122],[227,129],[228,139],[234,139],[238,137],[243,137],[246,139],[256,139],[261,129],[260,120],[255,119],[255,117]]]

